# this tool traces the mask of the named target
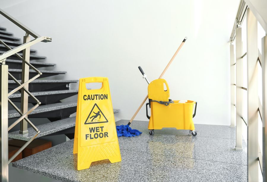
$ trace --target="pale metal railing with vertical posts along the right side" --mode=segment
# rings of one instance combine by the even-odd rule
[[[239,80],[239,84],[237,85],[242,85],[242,70],[243,70],[243,63],[242,63],[242,58],[246,59],[246,64],[247,64],[247,88],[244,87],[238,87],[236,93],[234,89],[231,90],[231,98],[238,97],[238,106],[235,111],[231,107],[231,123],[233,121],[232,118],[233,115],[240,116],[242,115],[242,105],[243,105],[243,100],[242,100],[242,92],[240,92],[240,89],[246,90],[247,91],[247,121],[241,116],[241,119],[243,120],[244,124],[247,125],[247,162],[248,162],[248,170],[247,170],[247,175],[248,175],[248,181],[256,181],[258,178],[258,165],[255,165],[256,160],[259,161],[260,163],[260,169],[262,174],[266,174],[266,168],[263,166],[266,165],[267,163],[267,150],[266,150],[266,145],[267,145],[267,132],[266,132],[266,55],[267,55],[267,36],[265,35],[261,42],[262,42],[262,55],[259,50],[255,49],[258,47],[257,40],[258,39],[258,32],[257,32],[257,24],[260,23],[260,25],[263,27],[263,29],[267,32],[267,16],[266,16],[266,5],[267,1],[266,0],[258,0],[258,1],[252,1],[252,0],[240,0],[239,3],[239,8],[235,17],[235,22],[233,24],[233,29],[231,32],[230,36],[230,41],[229,43],[232,43],[235,38],[236,38],[236,61],[239,61],[239,65],[237,64],[237,68],[232,68],[233,71],[231,70],[231,80],[234,79],[234,74],[232,72],[236,71],[238,74],[236,74],[236,79]],[[246,39],[247,39],[247,51],[246,53],[242,53],[242,28],[241,25],[244,22],[245,18],[247,17],[246,22],[247,26],[245,29],[247,30],[246,34]],[[233,46],[230,45],[230,63],[233,64]],[[243,59],[244,60],[244,59]],[[263,103],[260,102],[260,99],[255,98],[255,96],[258,95],[258,69],[257,67],[260,64],[261,67],[261,72],[262,72],[262,91],[263,91]],[[234,70],[235,69],[235,70]],[[240,71],[241,70],[241,71]],[[241,80],[241,81],[240,81]],[[231,81],[231,84],[233,82]],[[237,93],[238,92],[238,93]],[[258,97],[258,96],[257,96]],[[232,102],[231,102],[232,103]],[[236,113],[235,113],[236,112]],[[257,113],[257,115],[254,115]],[[258,114],[260,115],[260,119],[262,121],[263,129],[263,153],[258,152],[259,150],[256,147],[256,144],[259,144],[258,142],[258,127],[256,123],[258,122]],[[256,117],[257,116],[257,117]],[[241,146],[242,148],[242,125],[241,125],[241,120],[239,117],[236,119],[236,149],[239,149]],[[241,139],[241,140],[240,140]],[[241,141],[241,142],[240,142]],[[240,145],[241,144],[241,145]],[[257,157],[258,156],[258,157]],[[266,176],[263,175],[263,181],[266,181]]]

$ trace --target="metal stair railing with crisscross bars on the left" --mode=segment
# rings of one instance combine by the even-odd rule
[[[27,122],[35,131],[36,134],[29,140],[27,141],[9,160],[8,160],[8,134],[5,134],[4,137],[1,138],[1,167],[2,167],[2,171],[1,171],[1,181],[8,181],[8,164],[15,159],[15,157],[24,149],[26,148],[27,145],[29,145],[29,143],[31,143],[32,140],[34,140],[34,138],[37,137],[37,135],[40,133],[40,131],[37,129],[36,126],[34,126],[34,124],[28,119],[28,114],[31,113],[34,109],[36,109],[36,107],[38,107],[41,102],[35,97],[33,96],[27,89],[28,84],[35,80],[36,78],[38,78],[39,76],[42,75],[42,73],[36,69],[32,64],[29,63],[29,54],[30,54],[30,47],[38,42],[51,42],[52,38],[51,37],[46,37],[46,36],[40,36],[39,34],[37,34],[36,32],[34,32],[33,30],[29,29],[27,26],[23,25],[22,23],[20,23],[18,20],[16,20],[14,17],[12,17],[11,15],[9,15],[7,12],[3,11],[2,9],[0,9],[0,14],[3,15],[5,18],[7,18],[8,20],[10,20],[12,23],[14,23],[15,25],[17,25],[20,29],[24,30],[26,32],[26,36],[24,37],[24,41],[23,44],[15,47],[13,49],[11,49],[6,43],[4,43],[4,41],[0,40],[0,43],[3,44],[8,51],[6,51],[5,53],[0,55],[0,63],[1,65],[1,107],[3,107],[3,113],[1,113],[1,122],[2,122],[2,127],[1,130],[5,132],[9,131],[12,127],[14,127],[16,124],[18,124],[20,121],[25,121]],[[31,35],[32,37],[34,37],[33,40],[30,40],[29,35]],[[18,52],[23,50],[23,57],[21,57]],[[22,69],[22,74],[23,76],[25,76],[26,79],[22,79],[21,83],[19,83],[19,81],[11,74],[8,72],[8,67],[7,65],[5,65],[5,60],[6,58],[8,58],[9,56],[12,55],[16,55],[20,60],[22,60],[22,65],[23,65],[23,69]],[[28,66],[27,68],[25,68],[25,66]],[[29,68],[33,69],[37,75],[35,75],[34,77],[32,77],[31,79],[28,79],[28,72],[29,72]],[[12,91],[10,91],[9,93],[8,91],[8,76],[11,77],[15,83],[18,84],[18,87],[13,89]],[[16,91],[22,89],[22,94],[21,97],[23,98],[23,94],[26,93],[29,96],[31,96],[35,101],[36,101],[36,105],[34,105],[31,109],[28,110],[28,102],[25,102],[24,99],[22,99],[22,109],[21,110],[8,98],[8,96],[10,96],[11,94],[15,93]],[[6,94],[7,93],[7,94]],[[3,101],[3,102],[2,102]],[[9,127],[7,125],[8,123],[8,104],[10,103],[12,105],[12,107],[15,108],[15,110],[20,114],[20,118],[18,118],[13,124],[11,124]],[[24,122],[23,121],[23,122]],[[5,123],[5,125],[3,125],[3,123]],[[27,126],[26,126],[27,129]],[[24,132],[24,125],[23,127],[21,127],[21,130]],[[27,130],[26,130],[27,131]],[[3,136],[3,135],[2,135]]]

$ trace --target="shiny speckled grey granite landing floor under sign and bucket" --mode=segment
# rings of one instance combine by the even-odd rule
[[[234,150],[234,128],[196,124],[196,137],[176,129],[155,130],[150,136],[147,124],[134,121],[131,127],[143,133],[119,137],[121,162],[98,161],[77,171],[70,140],[13,166],[60,181],[247,181],[246,143],[243,151]]]

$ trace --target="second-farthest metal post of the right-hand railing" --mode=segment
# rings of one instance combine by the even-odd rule
[[[236,28],[236,151],[242,151],[243,116],[242,29]]]

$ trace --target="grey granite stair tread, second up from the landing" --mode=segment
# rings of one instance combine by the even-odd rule
[[[37,114],[37,113],[45,113],[48,111],[60,110],[60,109],[64,109],[68,107],[76,107],[76,106],[77,106],[77,101],[40,105],[28,115]],[[16,117],[20,117],[20,114],[15,109],[8,110],[8,118],[16,118]]]

